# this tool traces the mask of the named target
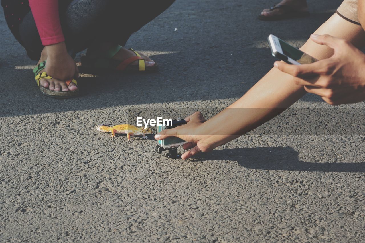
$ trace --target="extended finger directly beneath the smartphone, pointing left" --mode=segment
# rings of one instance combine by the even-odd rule
[[[324,67],[328,66],[329,62],[328,59],[323,59],[310,64],[301,64],[301,65],[293,65],[293,64],[288,64],[286,62],[276,61],[274,62],[274,66],[277,67],[282,72],[288,73],[294,77],[317,75],[323,72]]]

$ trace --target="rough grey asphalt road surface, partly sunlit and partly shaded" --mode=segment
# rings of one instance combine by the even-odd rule
[[[70,100],[40,94],[1,13],[0,242],[364,241],[360,133],[251,132],[182,161],[155,153],[152,136],[95,129],[130,109],[218,113],[272,67],[269,34],[300,46],[340,1],[308,3],[309,18],[261,22],[274,1],[177,0],[127,43],[160,72],[83,75]],[[333,108],[313,95],[293,107]]]

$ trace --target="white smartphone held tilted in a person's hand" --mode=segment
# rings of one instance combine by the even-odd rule
[[[284,62],[300,65],[318,61],[275,35],[269,35],[268,40],[272,55]]]

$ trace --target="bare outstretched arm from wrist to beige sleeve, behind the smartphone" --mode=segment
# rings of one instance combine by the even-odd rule
[[[361,26],[348,22],[337,13],[322,24],[315,34],[329,34],[347,39],[357,47],[363,46],[362,40],[365,39],[365,32]],[[312,40],[308,40],[301,50],[317,59],[333,55],[332,49]],[[225,109],[202,125],[201,135],[213,135],[204,139],[205,146],[218,147],[260,126],[290,107],[304,94],[306,92],[303,86],[296,85],[292,76],[276,68],[271,69],[244,96],[228,107],[240,108],[239,112],[238,109]],[[215,127],[223,130],[214,131],[212,128]]]

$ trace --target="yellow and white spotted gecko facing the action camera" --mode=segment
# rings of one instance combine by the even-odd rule
[[[114,127],[108,127],[109,124],[100,124],[96,126],[96,130],[99,132],[111,132],[112,138],[115,138],[115,134],[127,134],[128,140],[131,140],[131,136],[143,135],[143,139],[147,139],[146,134],[153,134],[151,128],[135,127],[128,124],[116,125]]]

